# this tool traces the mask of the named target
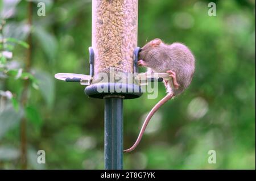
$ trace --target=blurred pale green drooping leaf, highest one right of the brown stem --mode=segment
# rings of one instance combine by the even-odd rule
[[[55,37],[41,27],[35,27],[33,33],[35,33],[46,56],[49,60],[53,60],[57,53],[57,40]]]

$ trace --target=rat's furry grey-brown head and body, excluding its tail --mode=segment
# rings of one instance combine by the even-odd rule
[[[147,68],[153,73],[174,71],[180,86],[177,90],[173,89],[169,81],[167,92],[173,92],[175,95],[180,94],[190,85],[195,71],[195,58],[191,50],[181,43],[168,45],[160,39],[154,39],[142,47],[139,60],[146,62]]]

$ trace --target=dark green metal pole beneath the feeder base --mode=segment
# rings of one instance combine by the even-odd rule
[[[105,97],[105,169],[123,169],[123,99]]]

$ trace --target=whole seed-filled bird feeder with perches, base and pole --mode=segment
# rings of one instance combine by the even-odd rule
[[[105,169],[123,167],[123,99],[138,98],[141,86],[168,78],[168,74],[138,74],[137,30],[138,0],[93,0],[90,75],[55,74],[57,79],[86,85],[85,94],[90,98],[105,100]],[[111,78],[119,73],[122,76],[117,81]],[[108,78],[102,79],[102,74]],[[133,75],[131,83],[129,74]],[[124,81],[119,82],[120,78]],[[102,87],[104,91],[98,91]]]

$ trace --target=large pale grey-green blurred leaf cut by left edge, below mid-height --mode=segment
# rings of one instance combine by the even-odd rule
[[[16,112],[11,104],[7,105],[5,109],[0,112],[0,138],[17,125],[22,116],[22,108]]]

